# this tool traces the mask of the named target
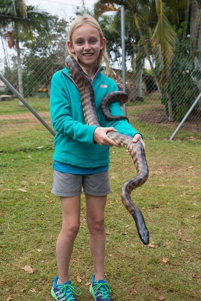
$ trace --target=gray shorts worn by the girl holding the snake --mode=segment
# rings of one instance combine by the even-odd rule
[[[108,171],[92,175],[65,174],[54,170],[51,193],[59,197],[80,195],[83,187],[85,193],[92,196],[105,196],[111,192]]]

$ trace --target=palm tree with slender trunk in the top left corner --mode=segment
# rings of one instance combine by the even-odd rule
[[[17,50],[19,92],[23,96],[20,43],[32,40],[35,32],[48,33],[51,16],[34,6],[27,6],[24,0],[0,0],[0,15],[1,25],[11,28],[4,37],[9,47]]]

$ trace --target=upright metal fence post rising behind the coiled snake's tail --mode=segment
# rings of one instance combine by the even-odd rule
[[[121,6],[121,33],[122,33],[122,81],[123,92],[126,93],[126,50],[125,50],[125,9]],[[124,104],[124,115],[126,112],[126,103]]]

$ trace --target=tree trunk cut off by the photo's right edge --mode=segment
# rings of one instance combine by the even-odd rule
[[[201,51],[201,35],[200,35],[200,26],[197,27],[197,20],[200,16],[200,10],[197,1],[193,0],[191,2],[191,16],[190,16],[190,37],[193,40],[193,53],[194,56],[195,51]],[[195,48],[196,46],[196,48]],[[194,58],[195,70],[201,72],[201,65],[198,62],[197,58]],[[193,78],[193,82],[198,87],[199,91],[201,91],[201,81],[197,81],[196,78]],[[197,95],[196,95],[197,96]],[[201,100],[199,100],[199,111],[201,112]]]

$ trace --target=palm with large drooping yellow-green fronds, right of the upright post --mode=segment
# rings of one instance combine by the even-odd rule
[[[153,0],[99,0],[98,4],[110,3],[114,5],[124,5],[125,10],[132,12],[135,26],[139,32],[140,40],[143,45],[146,58],[149,61],[152,74],[158,87],[158,91],[165,93],[168,103],[168,117],[172,119],[171,100],[167,91],[164,90],[165,80],[168,80],[169,67],[174,54],[174,47],[177,41],[177,35],[166,18],[162,0],[155,0],[155,8]],[[153,9],[154,8],[154,9]],[[107,10],[105,10],[107,11]],[[154,16],[158,15],[158,21]],[[151,21],[151,22],[150,22]],[[153,23],[154,26],[151,24]],[[154,33],[152,35],[152,29]],[[151,48],[152,46],[153,48]],[[151,57],[156,58],[160,55],[162,58],[162,80],[158,81]],[[159,57],[159,56],[158,56]]]

